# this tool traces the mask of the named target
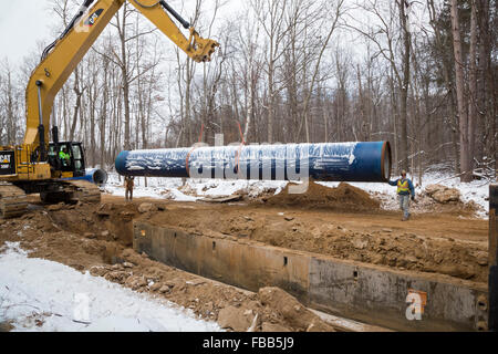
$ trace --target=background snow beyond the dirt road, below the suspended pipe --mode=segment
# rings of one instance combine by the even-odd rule
[[[458,177],[449,174],[428,173],[423,176],[422,186],[416,187],[416,194],[422,194],[428,185],[440,184],[450,188],[460,190],[461,199],[465,202],[474,200],[483,207],[483,211],[477,217],[486,218],[489,212],[489,183],[475,180],[471,183],[460,183]],[[395,179],[397,177],[393,177]],[[417,177],[408,176],[417,186],[419,180]],[[328,187],[336,187],[339,183],[320,183]],[[135,178],[134,197],[148,197],[157,199],[173,199],[177,201],[195,201],[203,196],[228,196],[237,190],[246,189],[250,197],[257,197],[259,194],[276,189],[279,194],[286,186],[286,181],[260,181],[260,180],[221,180],[221,179],[187,179],[186,186],[181,188],[181,178],[147,178],[148,187],[145,187],[144,178]],[[382,201],[382,207],[387,210],[398,208],[396,200],[396,187],[388,184],[378,183],[351,183],[352,186],[361,188],[375,195]],[[189,191],[199,197],[186,195],[179,190]],[[124,197],[123,179],[118,180],[117,174],[110,174],[108,183],[105,190],[115,196]]]

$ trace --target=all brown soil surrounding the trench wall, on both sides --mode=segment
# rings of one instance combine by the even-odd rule
[[[37,196],[29,201],[23,217],[0,220],[0,247],[20,242],[30,257],[166,298],[234,331],[333,327],[312,313],[298,321],[302,316],[298,305],[286,306],[297,300],[280,290],[251,293],[137,254],[132,249],[133,220],[476,283],[485,283],[488,274],[488,225],[473,218],[466,206],[418,212],[403,222],[400,212],[381,210],[377,200],[346,184],[338,188],[312,184],[304,195],[284,190],[235,204],[145,198],[126,202],[108,195],[100,205],[44,206]]]

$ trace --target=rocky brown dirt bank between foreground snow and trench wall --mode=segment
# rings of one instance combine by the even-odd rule
[[[138,211],[144,201],[152,200],[127,204],[122,198],[104,196],[101,205],[43,206],[37,197],[30,197],[27,215],[0,220],[0,249],[6,242],[20,242],[29,257],[60,262],[134,291],[167,299],[229,331],[335,331],[280,289],[264,288],[252,293],[134,252],[133,219],[151,216]],[[169,209],[168,205],[155,205],[164,209],[162,212]],[[0,324],[0,332],[10,330],[8,323]]]

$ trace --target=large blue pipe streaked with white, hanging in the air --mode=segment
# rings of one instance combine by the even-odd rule
[[[260,180],[386,181],[388,142],[245,145],[122,152],[122,176]]]

